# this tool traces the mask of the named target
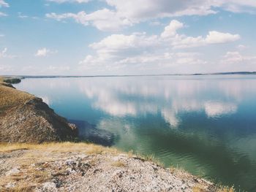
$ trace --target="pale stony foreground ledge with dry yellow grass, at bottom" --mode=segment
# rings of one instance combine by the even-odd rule
[[[15,147],[1,147],[0,191],[217,191],[186,172],[97,145]]]

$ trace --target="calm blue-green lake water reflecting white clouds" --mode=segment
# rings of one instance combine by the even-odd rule
[[[154,154],[256,191],[256,75],[25,79],[16,87],[100,131],[106,145]]]

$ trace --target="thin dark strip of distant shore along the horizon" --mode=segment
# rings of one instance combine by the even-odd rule
[[[154,77],[154,76],[210,76],[230,74],[256,74],[256,72],[217,72],[217,73],[195,73],[195,74],[120,74],[120,75],[1,75],[3,77],[19,78],[70,78],[70,77]]]

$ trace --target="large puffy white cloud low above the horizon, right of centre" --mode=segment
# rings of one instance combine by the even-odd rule
[[[178,34],[184,23],[170,21],[159,35],[133,33],[130,35],[112,34],[91,47],[95,54],[86,55],[80,65],[84,69],[120,69],[126,65],[173,66],[182,64],[206,64],[199,53],[182,52],[178,49],[234,42],[240,39],[238,34],[209,31],[206,37],[188,37]]]

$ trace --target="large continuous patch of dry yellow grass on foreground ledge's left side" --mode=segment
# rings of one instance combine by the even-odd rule
[[[15,188],[11,188],[11,191],[33,191],[34,188],[40,185],[40,183],[45,183],[52,179],[53,175],[47,171],[50,169],[50,162],[59,161],[62,158],[65,158],[69,152],[90,155],[99,153],[118,153],[115,149],[83,142],[58,142],[44,143],[40,145],[25,143],[0,144],[0,153],[3,155],[5,153],[15,152],[16,150],[19,150],[17,153],[23,154],[19,155],[16,159],[16,161],[18,161],[17,166],[20,167],[20,172],[6,176],[3,180],[0,179],[0,191],[1,186],[5,186],[8,183],[15,183]],[[22,150],[26,151],[23,152]],[[54,153],[60,153],[60,155],[50,155]],[[63,154],[63,156],[61,154]],[[94,164],[97,163],[96,158],[93,161],[95,161]],[[31,164],[37,164],[37,166],[31,166]],[[38,166],[41,169],[38,169]],[[61,172],[56,174],[61,174]]]

